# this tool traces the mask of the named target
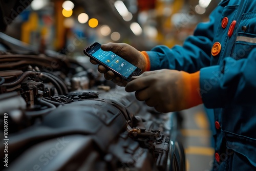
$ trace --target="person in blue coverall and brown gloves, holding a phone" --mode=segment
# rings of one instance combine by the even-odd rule
[[[143,70],[125,90],[136,91],[138,100],[159,112],[200,103],[214,109],[214,170],[256,170],[255,26],[256,1],[223,0],[209,22],[199,24],[182,47],[157,46],[139,52],[126,44],[110,43],[101,48]],[[125,86],[103,66],[98,70]]]

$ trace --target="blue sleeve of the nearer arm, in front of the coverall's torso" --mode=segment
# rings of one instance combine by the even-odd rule
[[[256,48],[247,58],[227,57],[221,65],[200,70],[200,90],[206,108],[256,105]]]

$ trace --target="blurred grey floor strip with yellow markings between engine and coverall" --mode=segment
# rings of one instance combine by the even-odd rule
[[[203,105],[181,111],[187,171],[208,171],[214,159],[209,119]]]

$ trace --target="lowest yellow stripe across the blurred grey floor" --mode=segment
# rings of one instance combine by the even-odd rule
[[[210,147],[200,147],[200,146],[189,146],[185,149],[186,155],[203,155],[203,156],[213,156],[214,148]]]

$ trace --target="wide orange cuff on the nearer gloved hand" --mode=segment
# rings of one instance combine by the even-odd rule
[[[184,78],[184,101],[186,101],[186,105],[191,108],[193,106],[202,104],[202,98],[200,92],[200,71],[189,74],[184,71],[181,71]]]

